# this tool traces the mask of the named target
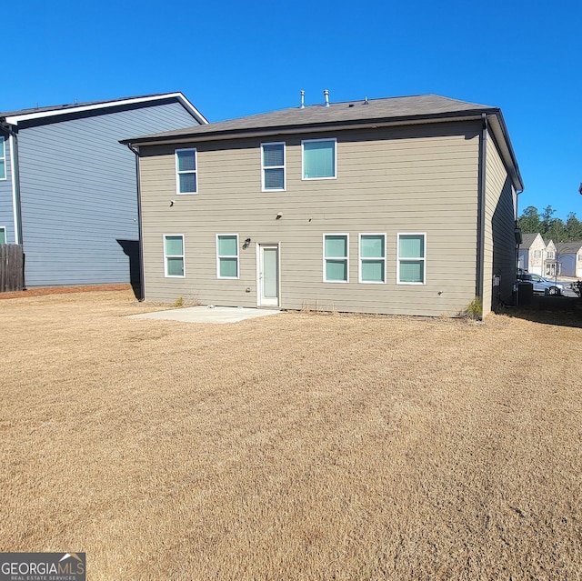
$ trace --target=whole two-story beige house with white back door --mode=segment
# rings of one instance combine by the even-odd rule
[[[366,99],[123,143],[147,300],[455,316],[512,298],[523,184],[497,107]]]

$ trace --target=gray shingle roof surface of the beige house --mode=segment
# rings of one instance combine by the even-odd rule
[[[203,135],[240,135],[253,130],[268,130],[276,128],[305,128],[309,125],[356,125],[380,120],[395,121],[398,119],[414,119],[415,117],[447,117],[469,115],[476,113],[497,113],[499,109],[487,105],[477,105],[465,101],[457,101],[438,95],[416,95],[391,97],[386,99],[370,99],[332,103],[328,107],[308,105],[304,109],[296,106],[280,111],[249,115],[220,121],[209,125],[200,125],[166,133],[125,139],[124,143],[146,141],[163,141],[165,138],[203,136]]]

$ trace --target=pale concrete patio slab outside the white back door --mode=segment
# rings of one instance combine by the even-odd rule
[[[278,315],[281,311],[262,308],[245,308],[241,306],[187,306],[168,311],[156,311],[143,315],[130,315],[130,319],[157,319],[180,321],[182,323],[238,323],[258,316]]]

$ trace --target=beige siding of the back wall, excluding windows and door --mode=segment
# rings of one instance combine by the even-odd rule
[[[301,140],[336,137],[336,179],[301,179]],[[256,306],[256,245],[280,245],[280,306],[456,315],[475,296],[478,125],[309,135],[286,142],[286,191],[261,191],[260,139],[196,142],[198,194],[176,195],[173,146],[142,147],[146,300]],[[174,200],[174,205],[170,206]],[[276,220],[277,213],[282,214]],[[185,235],[166,279],[164,234]],[[386,233],[386,285],[358,283],[358,234]],[[396,235],[426,234],[426,285],[396,285]],[[216,279],[216,234],[239,235],[240,277]],[[349,234],[349,283],[323,282],[323,235]],[[243,249],[246,238],[251,244]],[[246,292],[249,289],[249,292]]]

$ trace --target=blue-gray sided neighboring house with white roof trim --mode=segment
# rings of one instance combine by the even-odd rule
[[[135,155],[119,139],[204,124],[181,93],[0,113],[0,244],[24,245],[25,284],[135,279]]]

